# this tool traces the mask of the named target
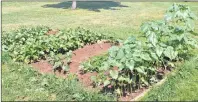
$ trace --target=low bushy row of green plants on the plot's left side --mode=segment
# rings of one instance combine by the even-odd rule
[[[112,37],[83,28],[60,30],[49,34],[49,27],[22,27],[16,31],[3,32],[2,50],[14,61],[33,63],[47,59],[53,69],[68,70],[72,51],[98,40],[113,41]]]

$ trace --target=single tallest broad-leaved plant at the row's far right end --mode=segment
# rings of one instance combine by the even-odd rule
[[[169,39],[167,45],[179,52],[179,56],[190,53],[193,47],[198,48],[196,39],[193,38],[195,14],[186,5],[173,4],[167,10],[165,22],[169,27]]]

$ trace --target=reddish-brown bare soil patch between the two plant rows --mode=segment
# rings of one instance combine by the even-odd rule
[[[80,74],[79,66],[83,61],[88,60],[90,57],[100,55],[106,52],[111,47],[110,43],[96,43],[93,45],[86,45],[83,48],[79,48],[73,51],[71,58],[71,63],[69,64],[70,70],[68,73],[76,74],[79,81],[85,86],[91,85],[91,76],[96,75],[97,73],[86,73]],[[36,63],[32,63],[33,68],[38,70],[40,73],[55,73],[57,76],[66,77],[67,74],[63,70],[58,69],[55,72],[52,69],[52,65],[49,64],[46,60],[41,60]]]

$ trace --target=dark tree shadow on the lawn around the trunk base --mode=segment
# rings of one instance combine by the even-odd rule
[[[60,2],[58,4],[46,4],[42,7],[44,8],[61,8],[61,9],[70,9],[72,1]],[[99,9],[108,9],[108,10],[118,10],[112,7],[128,7],[121,5],[120,2],[114,1],[77,1],[77,9],[87,9],[90,11],[100,12]]]

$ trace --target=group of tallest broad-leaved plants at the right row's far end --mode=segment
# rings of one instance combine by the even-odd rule
[[[192,35],[194,20],[196,16],[189,7],[173,4],[167,10],[163,21],[146,22],[141,26],[141,30],[153,52],[158,52],[158,57],[173,60],[177,54],[182,58],[190,53],[190,49],[198,48],[198,43]]]

